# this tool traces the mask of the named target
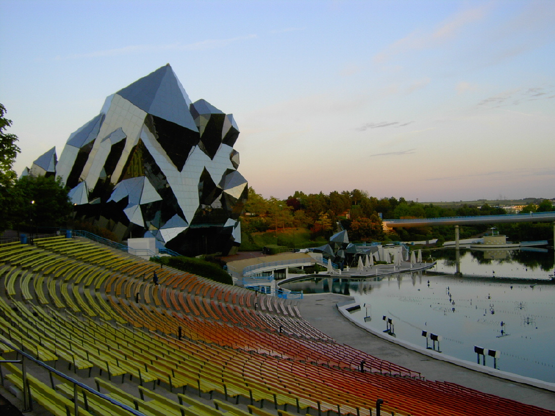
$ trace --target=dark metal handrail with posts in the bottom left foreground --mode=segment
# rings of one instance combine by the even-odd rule
[[[80,383],[80,382],[78,382],[77,380],[75,380],[71,377],[66,376],[64,373],[60,373],[59,371],[57,371],[57,369],[52,368],[48,364],[46,364],[42,361],[39,361],[38,359],[30,356],[26,352],[23,352],[21,349],[18,349],[16,347],[14,347],[9,342],[4,341],[3,339],[0,339],[0,342],[2,342],[3,344],[6,344],[9,348],[13,349],[18,354],[21,354],[21,356],[23,357],[22,358],[22,364],[23,364],[22,365],[22,383],[23,383],[23,398],[24,398],[23,402],[24,402],[24,405],[26,407],[28,407],[27,409],[24,409],[24,410],[32,410],[31,388],[29,387],[29,384],[27,382],[27,372],[26,372],[26,363],[25,363],[25,360],[28,359],[28,360],[34,362],[35,364],[38,364],[38,366],[41,366],[41,367],[47,369],[47,371],[49,372],[49,374],[51,376],[50,379],[51,379],[51,383],[52,383],[52,389],[54,389],[54,385],[53,385],[53,381],[52,381],[52,373],[56,374],[58,377],[61,377],[65,380],[69,381],[70,383],[73,383],[74,405],[75,405],[74,414],[79,414],[79,402],[77,400],[77,392],[78,392],[78,388],[80,388],[82,390],[83,397],[86,397],[85,392],[88,392],[90,394],[93,394],[95,396],[98,396],[98,397],[106,400],[107,402],[110,402],[110,403],[116,405],[119,408],[122,408],[123,410],[126,410],[130,414],[134,414],[135,416],[145,416],[144,413],[141,413],[138,410],[135,410],[132,407],[129,407],[128,405],[126,405],[126,404],[120,403],[117,400],[114,400],[113,398],[108,397],[105,394],[99,393],[99,392],[97,392],[97,390],[89,387],[86,384]],[[3,383],[3,376],[2,376],[1,371],[0,371],[0,378],[2,378],[2,383]],[[87,400],[85,400],[85,403],[87,403]],[[85,410],[88,411],[88,409],[86,409],[86,408],[85,408]],[[66,412],[68,412],[68,409],[66,409]],[[68,412],[68,414],[69,414],[69,412]]]

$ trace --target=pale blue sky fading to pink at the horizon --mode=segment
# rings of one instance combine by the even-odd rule
[[[21,173],[170,63],[232,113],[240,173],[285,199],[360,189],[555,197],[555,1],[0,0]]]

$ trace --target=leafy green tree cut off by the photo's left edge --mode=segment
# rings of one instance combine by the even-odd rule
[[[8,214],[14,207],[9,200],[9,190],[17,179],[17,174],[12,170],[16,156],[21,149],[16,145],[18,138],[15,134],[5,133],[12,120],[4,117],[6,108],[0,104],[0,230],[10,226]]]

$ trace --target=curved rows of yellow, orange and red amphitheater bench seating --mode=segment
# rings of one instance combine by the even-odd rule
[[[152,283],[154,271],[159,285]],[[0,245],[2,279],[0,339],[82,376],[96,371],[100,390],[147,415],[245,416],[231,404],[242,398],[259,416],[367,416],[378,397],[386,399],[382,412],[401,416],[555,414],[424,381],[417,372],[336,343],[304,321],[291,301],[160,268],[88,241],[53,237],[36,239],[34,246]],[[363,359],[366,373],[356,371]],[[15,372],[8,380],[17,384]],[[138,384],[137,395],[110,380]],[[156,392],[159,384],[176,393],[175,400]],[[73,398],[65,379],[57,392],[33,385],[45,407],[52,394],[61,397],[57,392]],[[81,409],[128,414],[80,393]],[[193,397],[213,394],[231,402],[215,399],[212,407]],[[73,406],[65,400],[52,413]]]

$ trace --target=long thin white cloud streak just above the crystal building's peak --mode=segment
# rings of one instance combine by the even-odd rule
[[[206,50],[206,49],[216,49],[223,48],[227,45],[240,42],[241,40],[255,39],[257,36],[255,34],[249,34],[245,36],[238,36],[235,38],[228,39],[206,39],[200,40],[199,42],[193,42],[188,44],[172,43],[165,45],[129,45],[123,48],[114,49],[103,49],[96,50],[94,52],[88,53],[76,53],[66,56],[57,55],[54,59],[56,60],[68,60],[68,59],[83,59],[83,58],[103,58],[103,57],[115,57],[120,55],[129,55],[137,53],[152,53],[160,52],[163,50]]]

